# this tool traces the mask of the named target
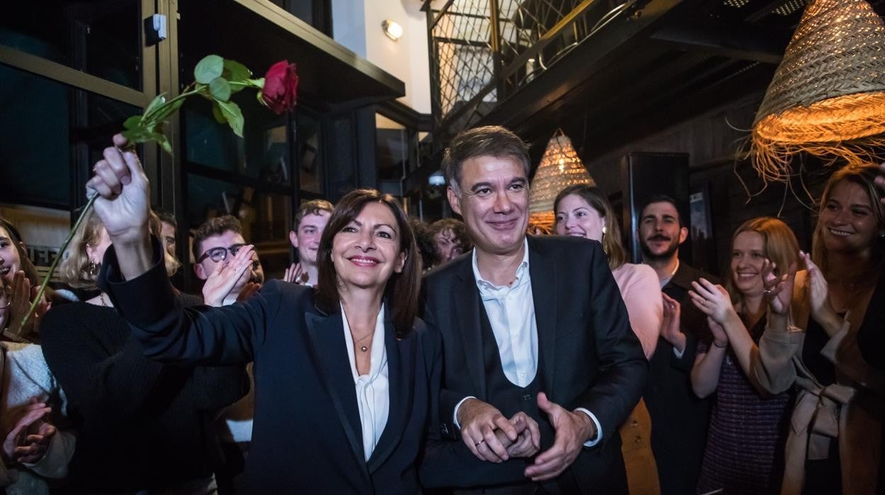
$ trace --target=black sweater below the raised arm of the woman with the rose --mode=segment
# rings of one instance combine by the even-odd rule
[[[219,466],[212,422],[248,391],[244,367],[150,360],[116,310],[86,303],[50,310],[41,336],[77,430],[67,491],[159,488]]]

